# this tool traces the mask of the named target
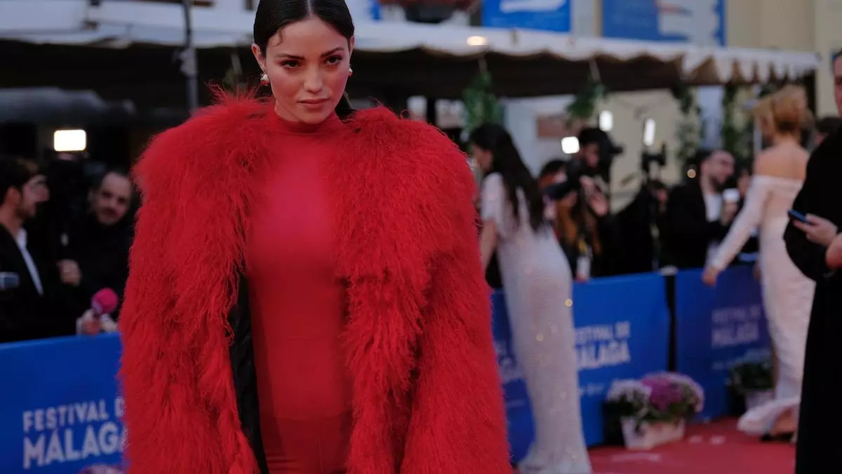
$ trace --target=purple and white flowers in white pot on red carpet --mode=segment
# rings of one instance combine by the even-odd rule
[[[685,422],[704,407],[701,386],[682,374],[647,374],[642,380],[616,380],[605,399],[606,412],[619,417],[630,450],[651,450],[684,438]]]

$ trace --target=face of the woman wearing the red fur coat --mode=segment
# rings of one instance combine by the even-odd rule
[[[252,45],[269,76],[278,116],[312,125],[325,121],[345,92],[353,48],[353,37],[316,17],[286,25],[269,38],[266,51]]]

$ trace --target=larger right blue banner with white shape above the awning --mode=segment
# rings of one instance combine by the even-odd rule
[[[603,0],[602,35],[725,45],[726,0]]]

